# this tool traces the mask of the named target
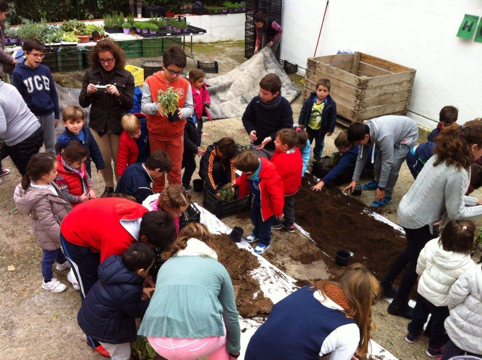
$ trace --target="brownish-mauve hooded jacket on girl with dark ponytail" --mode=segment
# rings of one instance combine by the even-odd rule
[[[18,210],[32,218],[33,235],[43,250],[61,247],[60,224],[72,210],[72,205],[64,198],[57,185],[51,184],[58,196],[38,187],[28,187],[25,192],[21,184],[17,185],[13,193]]]

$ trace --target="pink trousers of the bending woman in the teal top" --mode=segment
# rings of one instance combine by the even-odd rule
[[[196,360],[208,355],[209,360],[229,360],[226,335],[202,339],[147,337],[149,344],[167,360]]]

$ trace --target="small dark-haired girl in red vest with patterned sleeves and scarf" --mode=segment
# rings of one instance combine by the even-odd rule
[[[95,199],[94,182],[85,168],[89,155],[87,149],[77,141],[69,141],[63,147],[57,145],[56,149],[59,154],[55,183],[68,202],[75,207],[81,202]]]

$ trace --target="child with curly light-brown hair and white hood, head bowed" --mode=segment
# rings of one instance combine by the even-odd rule
[[[191,203],[191,194],[180,184],[169,185],[162,190],[159,198],[149,203],[149,210],[160,210],[168,213],[176,224],[176,235],[179,234],[179,220]]]

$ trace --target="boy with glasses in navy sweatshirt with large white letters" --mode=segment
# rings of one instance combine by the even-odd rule
[[[50,69],[41,65],[45,47],[37,39],[27,39],[22,50],[25,61],[13,70],[13,86],[27,107],[39,119],[45,152],[55,154],[55,127],[60,118],[59,101]]]

